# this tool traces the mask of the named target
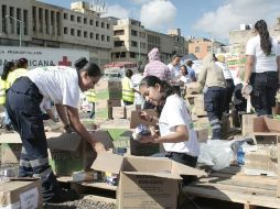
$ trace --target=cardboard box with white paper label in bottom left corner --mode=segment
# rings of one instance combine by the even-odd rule
[[[0,208],[43,208],[40,179],[0,182]]]

